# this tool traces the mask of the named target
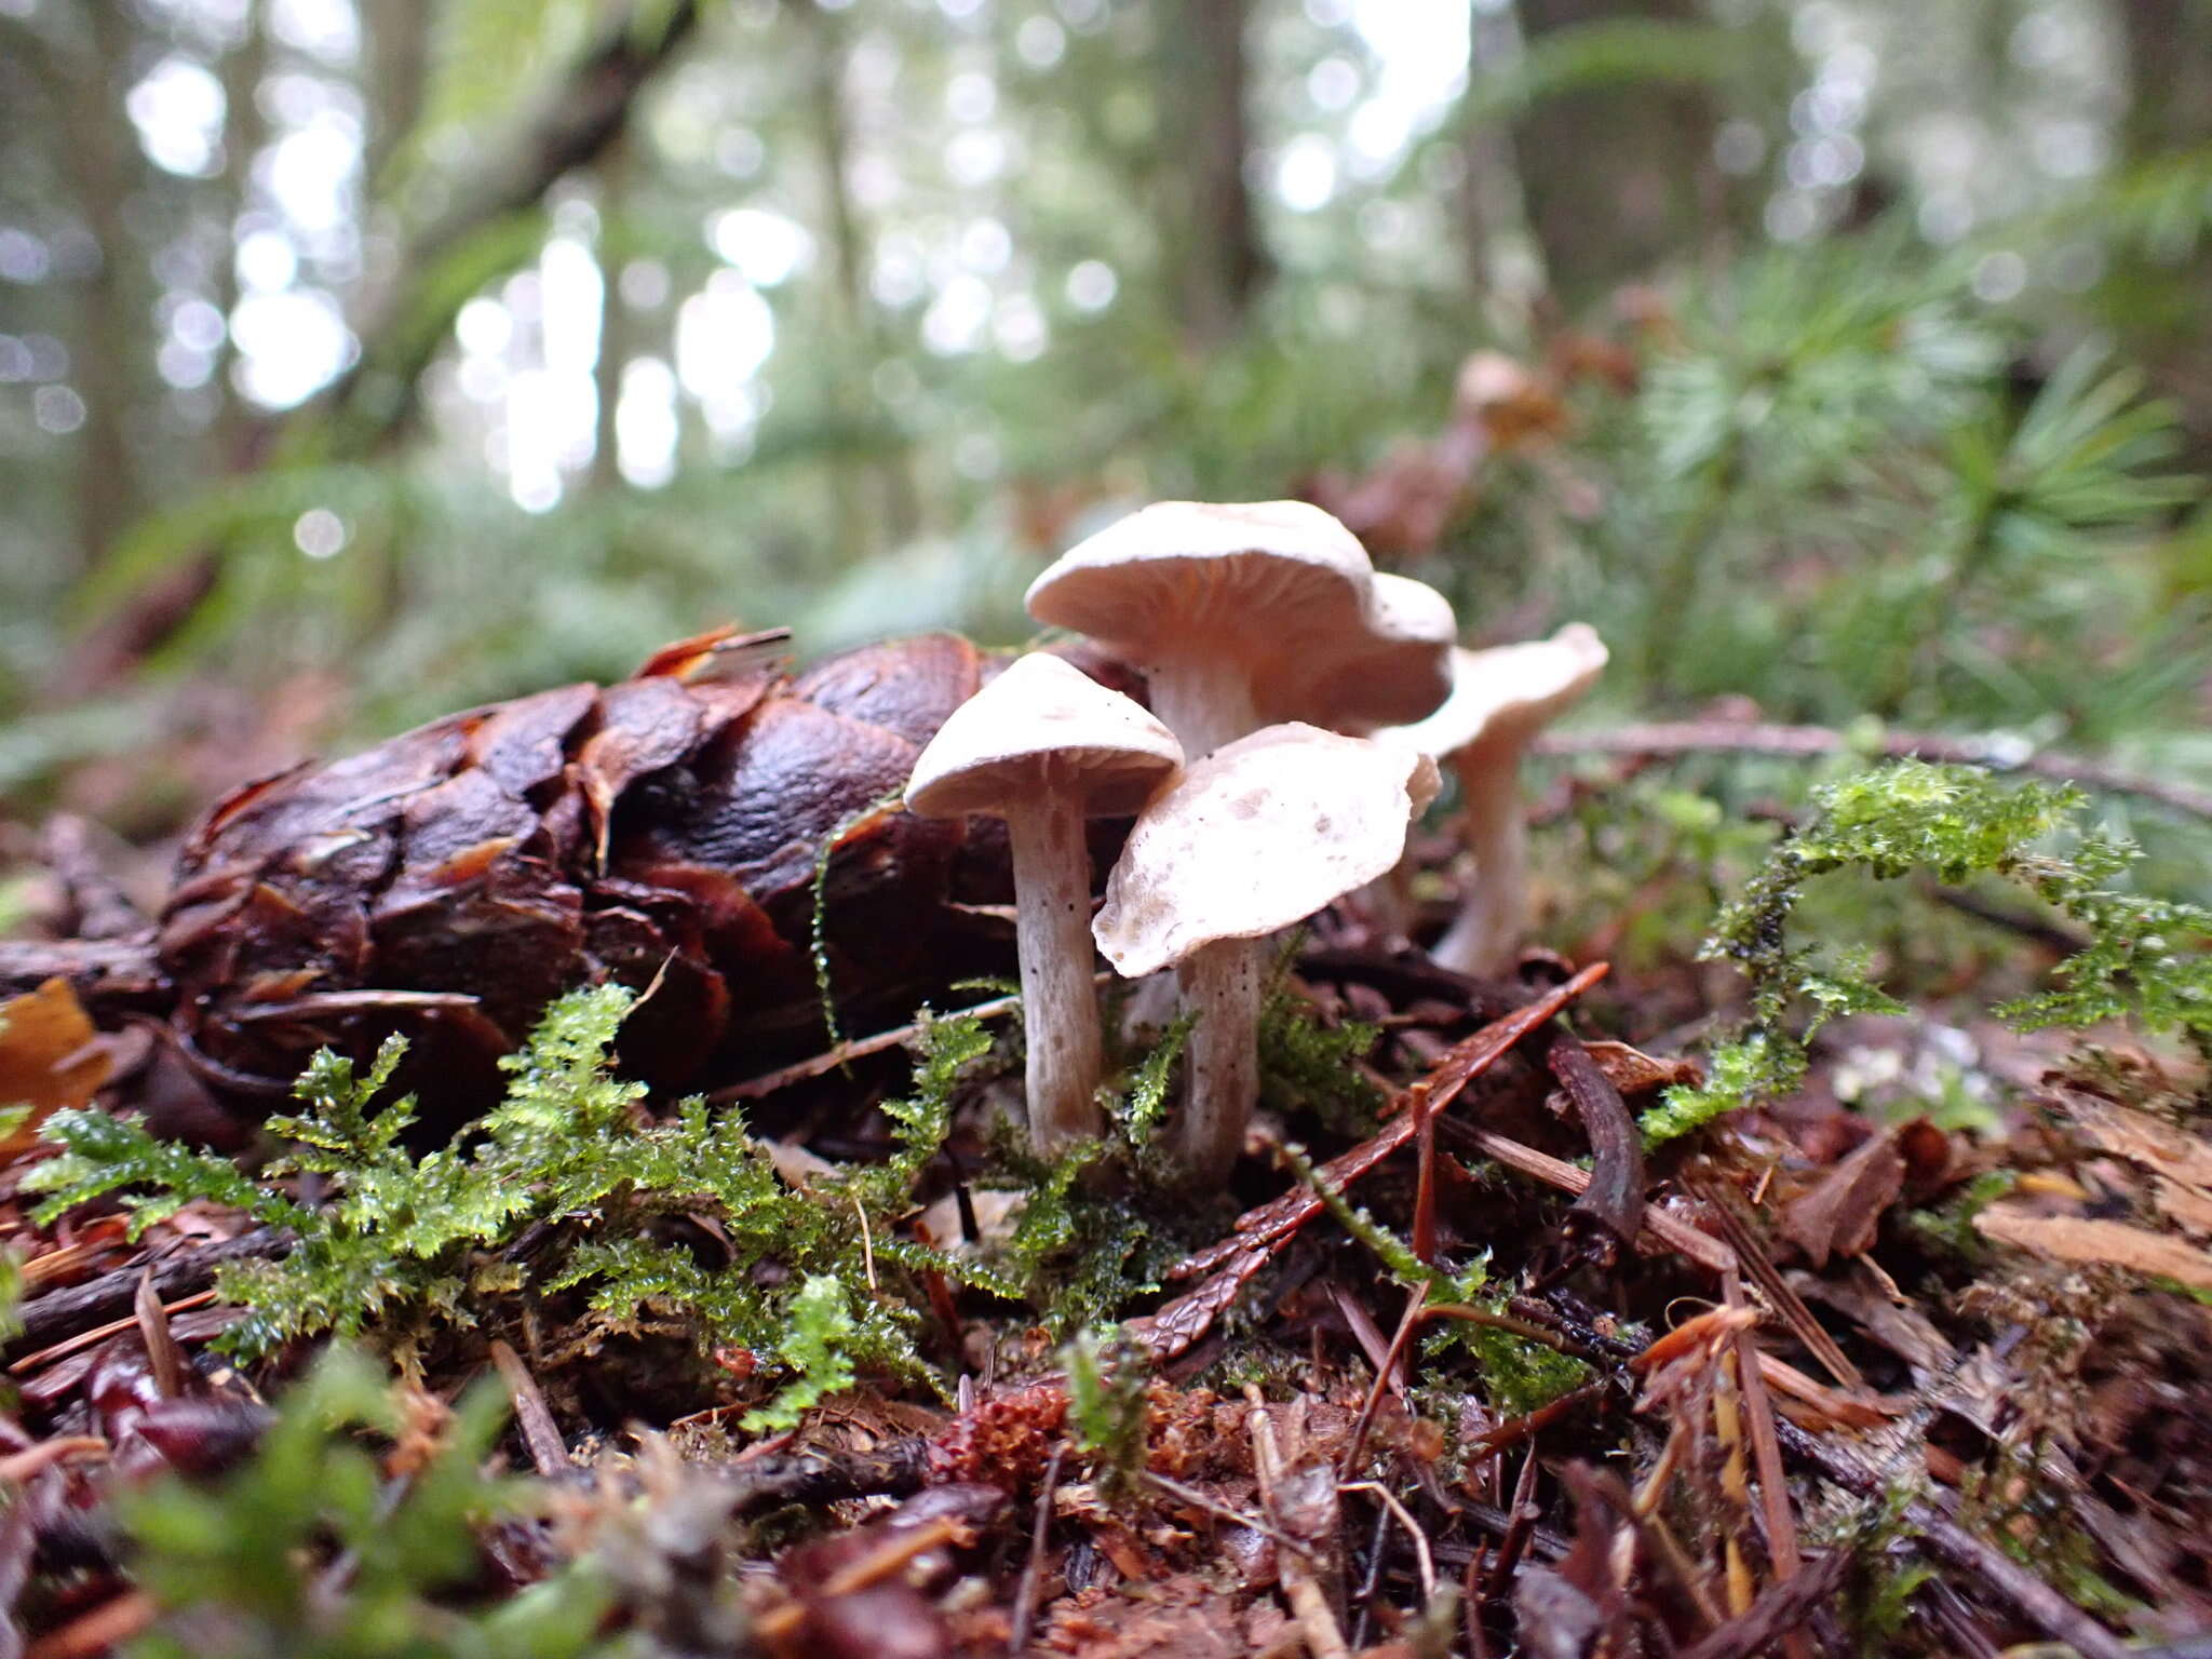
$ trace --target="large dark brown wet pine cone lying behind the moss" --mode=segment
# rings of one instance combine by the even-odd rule
[[[495,1097],[495,1060],[553,995],[606,978],[650,987],[622,1057],[655,1084],[814,1053],[832,836],[847,1031],[1011,971],[1011,927],[975,909],[1011,900],[1002,827],[887,805],[998,664],[922,635],[785,677],[745,644],[703,635],[617,686],[451,714],[217,803],[157,933],[201,1075],[272,1095],[319,1046],[367,1055],[405,1031],[405,1082],[449,1119]]]

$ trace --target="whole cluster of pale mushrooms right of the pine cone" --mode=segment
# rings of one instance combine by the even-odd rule
[[[1520,757],[1606,648],[1575,624],[1464,650],[1440,593],[1376,571],[1305,502],[1146,507],[1044,571],[1029,615],[1141,670],[1150,710],[1024,655],[945,721],[907,807],[1006,821],[1033,1146],[1104,1130],[1095,942],[1124,978],[1177,969],[1197,1022],[1175,1164],[1219,1181],[1259,1097],[1267,936],[1400,865],[1438,763],[1460,779],[1475,876],[1433,956],[1511,964],[1528,920]],[[1093,918],[1084,818],[1130,814]]]

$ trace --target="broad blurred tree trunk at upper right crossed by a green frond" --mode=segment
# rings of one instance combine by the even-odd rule
[[[1697,0],[1520,0],[1526,38],[1626,18],[1701,20]],[[1681,86],[1546,97],[1513,128],[1528,217],[1566,305],[1692,243],[1712,181],[1712,102]]]

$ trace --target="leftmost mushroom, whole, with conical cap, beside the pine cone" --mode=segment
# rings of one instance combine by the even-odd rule
[[[956,708],[914,763],[909,812],[1006,821],[1040,1152],[1102,1128],[1084,818],[1135,812],[1181,763],[1181,745],[1141,706],[1042,653]]]

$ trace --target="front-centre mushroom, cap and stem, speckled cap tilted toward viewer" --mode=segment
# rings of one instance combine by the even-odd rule
[[[1267,726],[1152,796],[1091,927],[1117,973],[1177,967],[1190,1033],[1179,1124],[1190,1181],[1219,1181],[1259,1097],[1261,945],[1374,880],[1436,799],[1429,757],[1314,726]]]

